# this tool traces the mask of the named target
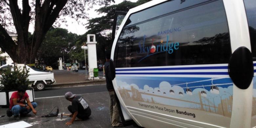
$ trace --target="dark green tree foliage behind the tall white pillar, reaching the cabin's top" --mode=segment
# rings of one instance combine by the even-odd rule
[[[83,42],[87,42],[87,34],[96,34],[96,51],[97,51],[97,60],[105,60],[105,48],[111,44],[111,39],[105,36],[105,31],[112,30],[113,20],[116,11],[129,11],[129,9],[144,4],[151,0],[138,0],[137,2],[123,1],[117,5],[105,6],[98,10],[98,13],[106,13],[105,16],[97,17],[90,19],[87,23],[87,31],[83,35],[79,35],[75,41],[75,48],[70,52],[70,58],[77,60],[78,62],[84,61],[84,51],[81,49]]]

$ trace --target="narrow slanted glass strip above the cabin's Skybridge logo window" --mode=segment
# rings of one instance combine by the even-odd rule
[[[129,24],[127,26],[206,1],[209,0],[170,0],[164,4],[160,4],[147,10],[132,14],[129,17]]]

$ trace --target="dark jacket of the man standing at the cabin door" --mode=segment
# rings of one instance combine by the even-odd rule
[[[106,75],[106,84],[108,91],[114,91],[114,86],[110,77],[110,63],[109,61],[105,62],[104,69],[105,69],[105,75]]]

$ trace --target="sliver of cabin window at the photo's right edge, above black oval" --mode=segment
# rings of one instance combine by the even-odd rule
[[[254,61],[256,60],[256,0],[244,0],[248,20],[251,51]]]

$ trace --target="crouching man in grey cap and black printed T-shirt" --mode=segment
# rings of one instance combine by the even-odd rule
[[[65,98],[72,102],[72,105],[68,106],[68,110],[72,113],[69,116],[72,117],[72,119],[66,122],[67,126],[71,125],[76,117],[85,120],[91,116],[91,109],[82,96],[76,96],[71,92],[67,92]]]

